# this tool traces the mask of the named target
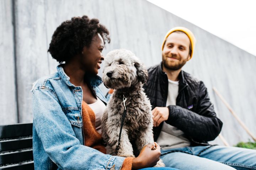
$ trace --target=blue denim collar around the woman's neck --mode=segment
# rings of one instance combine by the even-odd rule
[[[70,78],[64,72],[63,66],[64,66],[64,64],[59,64],[59,66],[57,66],[57,70],[60,75],[60,78],[62,78],[68,86],[75,87],[75,85],[69,81]],[[92,88],[95,88],[102,83],[102,79],[98,75],[86,74],[85,78],[86,78],[86,80],[89,81]]]

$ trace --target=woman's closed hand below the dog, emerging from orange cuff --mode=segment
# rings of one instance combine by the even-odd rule
[[[140,151],[137,158],[133,159],[133,169],[142,169],[155,166],[159,161],[161,155],[160,146],[154,142],[154,144],[148,144]]]

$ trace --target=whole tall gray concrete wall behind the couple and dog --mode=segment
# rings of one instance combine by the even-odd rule
[[[4,87],[0,91],[0,103],[4,108],[0,124],[32,122],[32,83],[54,73],[58,65],[47,53],[54,30],[66,19],[87,15],[100,19],[110,30],[111,44],[106,45],[104,54],[112,49],[126,48],[146,66],[161,61],[162,39],[170,28],[191,29],[197,44],[184,70],[203,80],[208,87],[218,116],[224,122],[223,136],[231,145],[250,139],[212,87],[219,90],[256,135],[256,57],[217,36],[146,0],[15,0],[14,6],[9,0],[3,0],[0,4],[0,85]],[[218,138],[213,143],[223,145]]]

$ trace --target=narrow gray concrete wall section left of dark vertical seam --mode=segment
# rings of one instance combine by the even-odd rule
[[[14,27],[10,0],[0,1],[0,123],[16,123]]]

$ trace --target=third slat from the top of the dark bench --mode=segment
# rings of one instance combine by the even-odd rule
[[[0,165],[33,160],[32,149],[21,152],[0,154]]]

